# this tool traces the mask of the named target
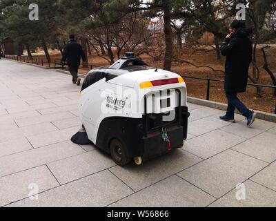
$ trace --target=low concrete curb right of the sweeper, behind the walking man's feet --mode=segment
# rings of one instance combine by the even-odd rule
[[[192,104],[198,104],[201,106],[207,106],[209,108],[215,108],[219,109],[221,111],[226,111],[227,110],[227,104],[222,104],[219,102],[211,102],[211,101],[206,101],[205,99],[199,99],[195,97],[188,97],[188,102]],[[257,113],[257,119],[263,119],[266,120],[267,122],[273,122],[276,123],[276,115],[272,113],[266,113],[262,111],[255,111]],[[236,113],[239,113],[236,111]]]

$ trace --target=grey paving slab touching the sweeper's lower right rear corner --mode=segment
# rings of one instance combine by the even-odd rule
[[[216,130],[188,140],[184,143],[183,148],[203,159],[207,159],[244,142],[244,140],[246,140],[246,138]]]

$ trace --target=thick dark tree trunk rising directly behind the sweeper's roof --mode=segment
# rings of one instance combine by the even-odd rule
[[[173,43],[172,43],[172,27],[170,26],[170,7],[168,6],[167,0],[162,0],[163,9],[164,9],[164,33],[166,39],[166,51],[164,59],[164,70],[170,70],[172,67],[172,52],[173,52]]]

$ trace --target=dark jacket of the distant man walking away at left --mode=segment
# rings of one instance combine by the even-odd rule
[[[79,67],[81,58],[86,61],[86,56],[80,44],[77,44],[76,41],[69,41],[63,49],[62,61],[68,61],[68,65],[71,67]]]

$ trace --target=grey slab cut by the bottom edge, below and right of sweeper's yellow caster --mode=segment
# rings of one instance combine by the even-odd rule
[[[215,198],[211,195],[173,175],[110,206],[204,207],[213,201],[215,201]]]

